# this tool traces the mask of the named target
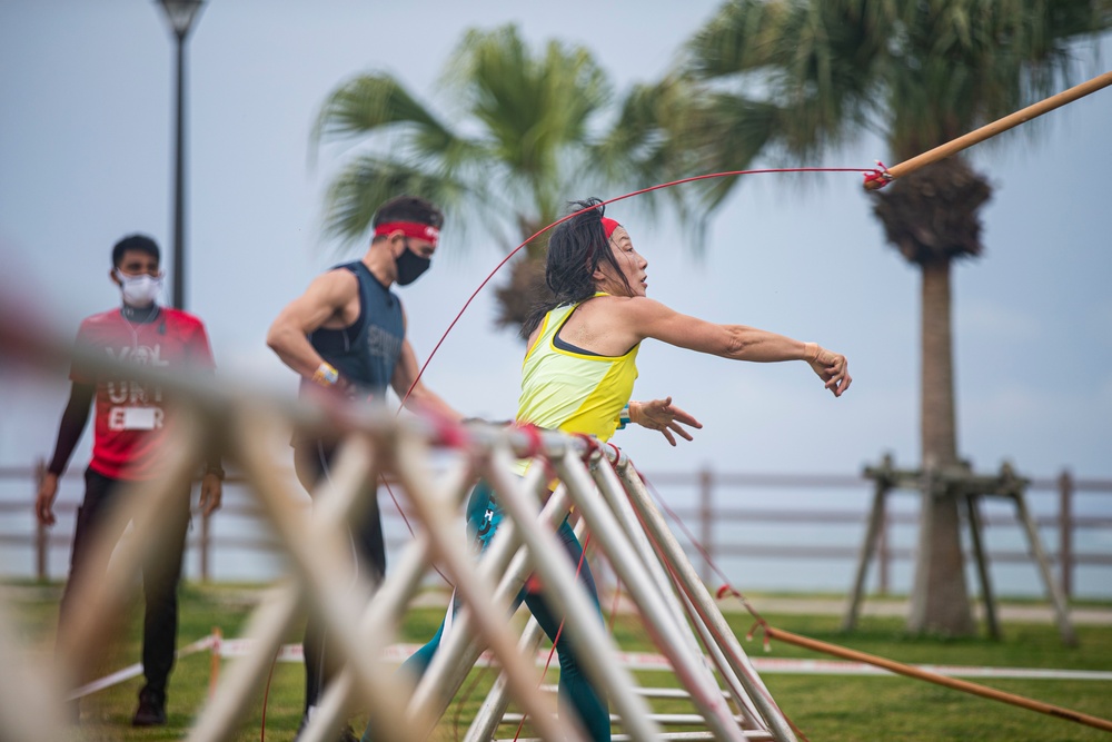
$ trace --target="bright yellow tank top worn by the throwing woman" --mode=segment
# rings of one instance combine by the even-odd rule
[[[622,356],[595,356],[556,347],[556,334],[578,306],[556,307],[545,315],[537,342],[525,354],[522,366],[517,422],[549,431],[585,433],[605,442],[617,429],[622,408],[633,395],[641,344]]]

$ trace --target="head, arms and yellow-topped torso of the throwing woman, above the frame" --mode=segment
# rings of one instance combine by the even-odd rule
[[[625,227],[604,217],[597,199],[573,207],[580,212],[548,241],[545,281],[554,299],[523,328],[528,350],[519,423],[608,438],[629,400],[634,360],[647,338],[734,360],[804,360],[835,397],[850,387],[841,354],[755,327],[709,323],[649,299],[648,260]],[[676,422],[694,419],[661,402],[629,403],[629,419],[689,439]]]

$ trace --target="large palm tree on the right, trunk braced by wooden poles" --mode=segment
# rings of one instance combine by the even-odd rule
[[[1075,42],[1110,26],[1109,0],[736,0],[689,42],[685,70],[738,110],[764,107],[775,119],[771,144],[788,155],[872,130],[903,161],[1061,89]],[[950,267],[980,255],[991,194],[955,157],[900,178],[873,207],[887,240],[922,270],[925,468],[960,464]],[[956,499],[924,494],[922,512],[909,627],[970,634]]]

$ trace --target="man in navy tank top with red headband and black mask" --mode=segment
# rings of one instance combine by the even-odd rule
[[[459,421],[461,415],[426,387],[406,339],[406,317],[394,284],[405,286],[429,267],[444,215],[421,198],[399,196],[384,204],[371,221],[375,236],[363,259],[318,276],[290,301],[267,334],[267,345],[300,376],[301,392],[322,387],[351,399],[385,400],[387,387],[410,409]],[[415,384],[416,380],[416,384]],[[411,387],[411,388],[410,388]],[[294,468],[311,494],[328,477],[336,442],[294,436]],[[386,572],[386,548],[377,498],[353,530],[357,570],[371,583]],[[365,573],[366,574],[366,573]],[[311,613],[305,629],[305,715],[312,714],[324,687],[340,666],[326,632]],[[350,728],[339,740],[357,739]]]

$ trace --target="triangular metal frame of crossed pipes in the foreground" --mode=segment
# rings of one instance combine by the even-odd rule
[[[10,344],[4,330],[0,323],[0,343]],[[17,339],[24,358],[59,365],[64,357],[56,346],[37,338]],[[122,522],[131,521],[135,528],[116,548],[108,575],[95,584],[75,585],[75,598],[88,607],[59,637],[53,666],[28,669],[26,662],[13,660],[18,644],[0,594],[0,739],[54,740],[68,734],[58,721],[66,718],[63,689],[87,679],[98,647],[107,644],[132,588],[136,565],[163,543],[166,528],[159,514],[180,491],[179,483],[191,477],[191,463],[200,461],[209,446],[220,445],[225,458],[246,475],[291,567],[252,613],[246,630],[252,651],[221,673],[210,702],[190,730],[190,741],[234,739],[266,682],[276,650],[304,610],[317,612],[326,623],[347,665],[329,685],[301,734],[302,742],[327,739],[357,709],[375,719],[378,739],[427,739],[483,650],[497,660],[503,679],[467,739],[493,739],[510,699],[529,716],[540,739],[585,739],[578,720],[567,718],[570,714],[557,718],[552,693],[542,689],[543,677],[534,664],[539,636],[535,622],[520,642],[515,639],[513,600],[527,575],[536,573],[545,600],[565,616],[568,631],[575,632],[584,647],[584,671],[609,699],[624,739],[795,742],[786,719],[618,448],[599,448],[592,439],[559,433],[526,434],[485,424],[398,418],[370,405],[265,398],[257,390],[226,386],[211,377],[125,367],[100,357],[89,360],[158,382],[178,406],[180,423],[168,447],[172,455],[166,462],[166,476],[145,483],[141,496],[131,498],[133,508],[113,514]],[[274,466],[269,436],[260,434],[292,424],[342,438],[335,471],[314,493],[308,522],[299,505],[301,493]],[[444,448],[461,455],[447,471],[438,472],[430,465],[431,454]],[[519,477],[513,473],[514,463],[523,457],[534,458],[535,465]],[[553,472],[563,486],[548,496]],[[342,545],[348,523],[368,506],[383,476],[406,489],[421,528],[381,583],[373,585],[357,575]],[[490,547],[476,557],[460,526],[463,502],[479,477],[497,492],[506,521]],[[578,527],[589,530],[592,544],[628,587],[649,634],[695,704],[705,732],[661,731],[646,691],[622,667],[596,607],[577,586],[574,565],[547,557],[563,554],[554,526],[572,508]],[[98,546],[111,550],[116,544]],[[416,687],[409,687],[381,655],[395,641],[395,627],[434,564],[450,577],[463,607],[429,671]]]

